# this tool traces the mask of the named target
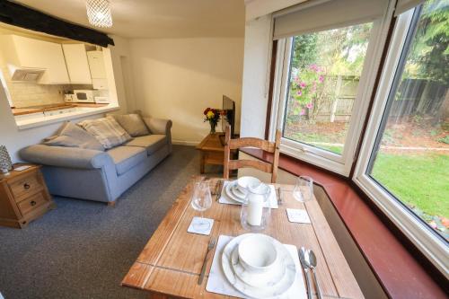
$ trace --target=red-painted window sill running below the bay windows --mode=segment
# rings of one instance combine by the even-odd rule
[[[241,151],[262,161],[273,160],[272,154],[258,149]],[[283,154],[279,158],[279,168],[294,175],[309,175],[325,189],[387,295],[404,299],[447,298],[445,290],[357,194],[348,179]]]

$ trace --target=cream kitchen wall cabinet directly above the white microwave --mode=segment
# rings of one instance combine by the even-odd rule
[[[91,71],[84,44],[63,44],[70,83],[92,84]]]

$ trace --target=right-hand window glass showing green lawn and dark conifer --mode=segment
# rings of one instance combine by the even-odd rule
[[[448,240],[449,7],[417,9],[368,173]]]

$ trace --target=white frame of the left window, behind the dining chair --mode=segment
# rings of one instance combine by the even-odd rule
[[[363,99],[371,99],[371,94],[374,92],[375,79],[392,18],[393,6],[393,4],[390,4],[386,8],[386,12],[381,19],[371,21],[373,22],[373,27],[368,41],[362,75],[360,76],[357,87],[356,100],[349,119],[348,134],[342,154],[335,154],[317,146],[293,141],[284,136],[281,137],[281,153],[293,156],[307,163],[313,163],[343,176],[349,176],[353,163],[355,163],[354,158],[357,145],[365,122],[366,111],[370,103],[370,101],[363,101]],[[334,28],[339,28],[339,25],[336,24]],[[274,140],[277,128],[281,128],[282,132],[284,128],[292,40],[293,37],[277,40],[273,101],[271,103],[271,117],[269,122],[270,140]]]

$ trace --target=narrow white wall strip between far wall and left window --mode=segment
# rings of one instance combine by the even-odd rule
[[[265,137],[265,119],[269,101],[271,59],[271,16],[246,22],[241,136]]]

